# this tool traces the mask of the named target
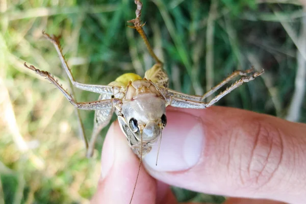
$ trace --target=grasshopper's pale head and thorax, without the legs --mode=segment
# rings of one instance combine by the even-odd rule
[[[161,128],[163,128],[161,117],[165,112],[166,101],[152,82],[146,79],[129,82],[125,89],[125,96],[122,98],[118,119],[119,123],[121,121],[122,131],[133,150],[141,146],[140,133],[142,133],[144,149],[158,139]],[[136,123],[136,130],[133,130],[131,121]],[[143,153],[149,150],[150,148]]]

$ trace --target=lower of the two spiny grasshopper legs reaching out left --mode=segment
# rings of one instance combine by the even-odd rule
[[[65,97],[70,101],[70,103],[73,106],[77,107],[78,109],[83,109],[83,110],[110,109],[115,107],[116,105],[121,104],[121,99],[118,98],[77,103],[75,102],[74,98],[67,92],[67,90],[65,90],[62,87],[62,85],[60,85],[58,81],[55,80],[54,77],[49,72],[36,69],[32,65],[29,67],[25,63],[24,66],[27,67],[28,69],[31,69],[32,71],[35,71],[37,74],[41,75],[42,77],[45,77],[49,82],[54,84],[65,95]]]

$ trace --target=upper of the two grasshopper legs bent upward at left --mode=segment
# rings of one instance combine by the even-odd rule
[[[64,58],[64,55],[62,53],[62,48],[61,48],[61,45],[60,45],[60,41],[59,41],[59,37],[57,36],[49,36],[48,34],[42,32],[43,36],[45,38],[47,38],[50,42],[52,42],[57,50],[57,53],[60,57],[60,60],[62,62],[62,66],[63,68],[65,69],[65,71],[67,72],[67,75],[71,81],[71,83],[73,84],[73,86],[79,88],[79,89],[82,89],[82,90],[85,90],[85,91],[91,91],[91,92],[94,92],[94,93],[100,93],[100,94],[114,94],[114,89],[116,87],[113,87],[113,86],[104,86],[104,85],[91,85],[91,84],[82,84],[82,83],[79,83],[77,81],[74,80],[73,78],[73,75],[71,73],[71,70],[70,68],[68,67],[68,64]]]

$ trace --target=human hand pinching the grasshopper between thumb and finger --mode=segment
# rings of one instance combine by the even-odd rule
[[[226,204],[306,203],[306,124],[224,107],[170,107],[167,118],[158,165],[155,145],[144,158],[132,203],[177,203],[168,185],[243,197]],[[138,164],[115,122],[92,203],[129,203]]]

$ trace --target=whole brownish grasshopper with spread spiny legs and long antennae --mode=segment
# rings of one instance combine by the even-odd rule
[[[47,71],[39,70],[33,65],[28,66],[24,63],[24,66],[42,77],[45,77],[49,82],[54,84],[74,107],[81,110],[95,111],[94,127],[91,139],[89,144],[86,145],[87,157],[91,157],[93,154],[95,141],[99,132],[110,122],[113,113],[116,113],[118,116],[119,126],[124,133],[129,146],[139,158],[139,169],[136,178],[137,183],[142,158],[148,154],[152,145],[154,145],[157,140],[159,140],[159,152],[162,140],[162,131],[167,124],[167,106],[191,109],[208,108],[223,96],[241,86],[243,83],[254,80],[256,77],[264,73],[264,69],[259,72],[254,71],[253,68],[245,71],[234,71],[221,83],[202,96],[189,95],[169,89],[169,78],[166,71],[163,69],[163,63],[153,52],[146,34],[142,29],[145,24],[142,24],[140,20],[142,3],[139,0],[135,0],[134,2],[137,5],[136,18],[127,22],[133,23],[133,26],[129,27],[135,29],[140,34],[150,56],[156,61],[156,64],[145,72],[144,78],[141,78],[135,73],[125,73],[109,85],[79,83],[74,80],[71,70],[64,58],[59,43],[59,37],[50,36],[44,32],[44,37],[54,44],[62,66],[68,74],[72,85],[81,90],[99,93],[100,96],[98,97],[98,100],[77,103],[72,95],[70,95],[67,90],[59,84],[58,80],[56,80],[52,74]],[[223,92],[220,92],[212,100],[207,103],[204,102],[207,97],[238,76],[241,76],[238,81],[233,83],[230,87],[227,87]],[[156,165],[158,155],[159,153],[157,154]],[[131,197],[131,202],[135,192],[136,183]]]

